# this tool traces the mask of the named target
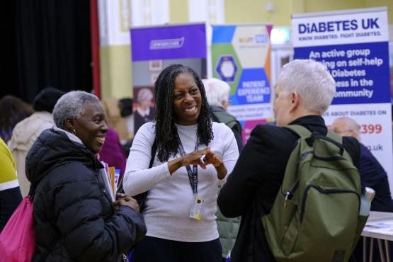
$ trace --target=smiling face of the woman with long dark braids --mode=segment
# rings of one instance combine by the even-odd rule
[[[176,76],[172,105],[176,124],[195,125],[198,123],[202,96],[192,74],[181,73]]]

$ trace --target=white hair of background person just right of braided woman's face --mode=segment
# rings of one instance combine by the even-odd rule
[[[210,106],[222,106],[222,102],[228,101],[231,87],[227,82],[215,78],[203,79],[202,82]]]

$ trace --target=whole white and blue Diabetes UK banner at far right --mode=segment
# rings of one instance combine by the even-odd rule
[[[326,125],[339,117],[360,125],[360,139],[380,161],[393,187],[392,106],[387,8],[292,16],[295,59],[315,59],[336,80]]]

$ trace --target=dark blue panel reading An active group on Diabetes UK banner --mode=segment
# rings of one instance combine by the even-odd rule
[[[387,42],[295,47],[295,59],[322,62],[336,80],[333,104],[389,103]]]

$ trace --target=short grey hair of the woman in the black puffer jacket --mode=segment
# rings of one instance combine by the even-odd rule
[[[84,113],[86,103],[100,103],[99,99],[85,91],[70,91],[65,93],[57,101],[53,108],[53,120],[55,125],[64,129],[65,120],[77,119]]]

